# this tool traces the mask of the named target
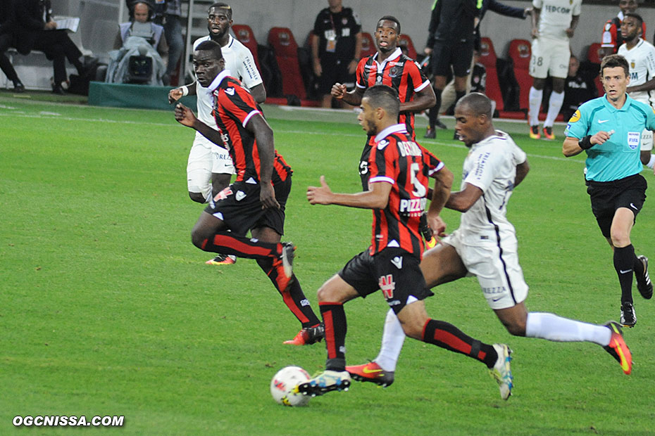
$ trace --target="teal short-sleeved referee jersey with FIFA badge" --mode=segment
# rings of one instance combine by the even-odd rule
[[[642,130],[655,130],[655,113],[649,105],[625,95],[623,108],[616,109],[606,96],[587,101],[568,120],[564,135],[582,139],[598,132],[614,131],[609,141],[587,152],[587,180],[613,181],[642,172]]]

